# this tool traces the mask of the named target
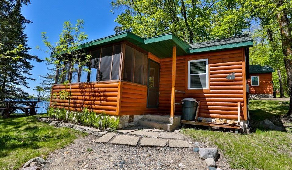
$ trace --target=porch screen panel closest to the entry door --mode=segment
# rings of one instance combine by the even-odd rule
[[[145,55],[136,50],[135,55],[135,72],[134,72],[134,82],[143,84],[144,75],[144,57]]]

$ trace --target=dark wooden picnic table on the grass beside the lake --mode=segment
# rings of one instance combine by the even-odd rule
[[[36,104],[39,102],[41,101],[3,101],[0,111],[3,110],[3,116],[5,118],[7,118],[15,110],[22,110],[25,115],[36,115],[36,108],[39,108]]]

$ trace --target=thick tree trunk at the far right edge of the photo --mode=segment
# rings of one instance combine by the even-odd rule
[[[281,42],[282,42],[282,52],[284,55],[284,64],[287,72],[287,85],[289,88],[289,96],[290,96],[290,106],[289,111],[285,115],[286,117],[292,116],[292,36],[291,36],[291,27],[288,18],[288,11],[286,8],[283,8],[283,0],[279,0],[277,2],[277,7],[281,9],[281,11],[277,14],[280,33],[281,33]]]

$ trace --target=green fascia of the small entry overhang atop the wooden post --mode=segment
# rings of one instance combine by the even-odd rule
[[[153,37],[144,38],[145,45],[155,42],[161,42],[166,40],[172,40],[177,47],[181,48],[184,52],[189,53],[189,48],[191,48],[190,45],[188,45],[186,42],[182,41],[179,37],[177,37],[173,33],[167,33],[162,35],[157,35]]]

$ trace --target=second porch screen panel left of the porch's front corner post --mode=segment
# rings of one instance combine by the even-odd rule
[[[101,60],[99,68],[99,80],[110,80],[110,68],[112,64],[113,46],[101,49]]]

